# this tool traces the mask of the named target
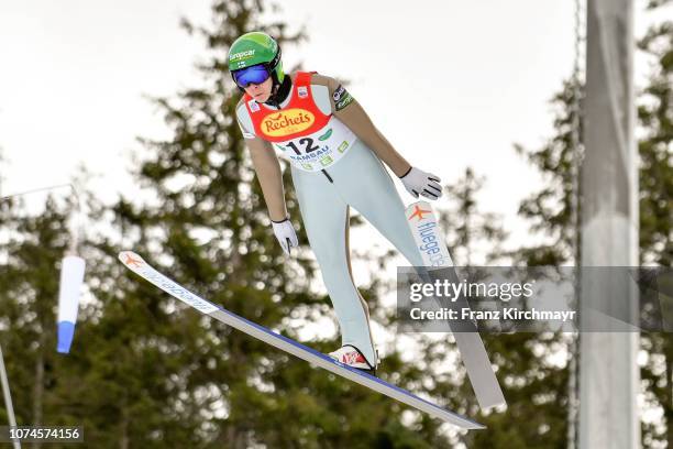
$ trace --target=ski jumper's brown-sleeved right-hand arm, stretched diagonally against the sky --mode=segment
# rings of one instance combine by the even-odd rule
[[[409,164],[399,154],[388,140],[378,131],[362,106],[334,78],[323,75],[313,75],[311,84],[327,86],[332,98],[332,112],[346,127],[357,135],[365,145],[386,163],[398,177],[411,169]]]

